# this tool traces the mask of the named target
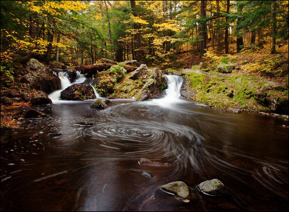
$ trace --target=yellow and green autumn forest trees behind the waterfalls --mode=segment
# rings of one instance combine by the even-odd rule
[[[1,1],[1,73],[33,57],[70,66],[288,44],[288,1]]]

